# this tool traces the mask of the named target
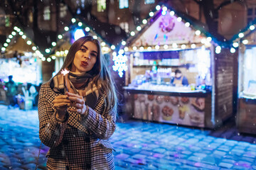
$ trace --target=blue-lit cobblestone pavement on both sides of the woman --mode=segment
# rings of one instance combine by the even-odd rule
[[[220,131],[117,123],[112,137],[116,169],[256,169],[256,137]],[[0,169],[35,169],[39,146],[37,110],[0,105]],[[46,169],[47,150],[43,145],[38,169]]]

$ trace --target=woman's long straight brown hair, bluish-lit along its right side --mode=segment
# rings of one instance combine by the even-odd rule
[[[99,93],[101,95],[106,95],[105,111],[108,112],[112,109],[117,110],[117,92],[114,85],[114,81],[110,75],[110,71],[107,69],[107,61],[105,60],[105,57],[102,55],[100,42],[92,38],[92,36],[85,36],[79,38],[73,43],[73,45],[71,45],[70,50],[68,50],[68,55],[67,57],[65,57],[63,67],[61,67],[60,71],[56,75],[60,74],[62,69],[71,69],[73,60],[75,58],[75,53],[78,52],[82,45],[85,44],[85,42],[87,41],[91,41],[95,43],[95,45],[97,46],[97,61],[94,67],[92,67],[92,81],[97,87],[101,85],[101,89],[98,89]]]

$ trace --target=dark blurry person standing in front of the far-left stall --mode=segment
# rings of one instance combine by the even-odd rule
[[[11,108],[11,106],[15,106],[16,105],[16,94],[17,94],[17,86],[13,80],[13,76],[9,76],[9,81],[6,82],[5,86],[6,86],[6,97],[7,97],[7,104],[8,104],[8,108]]]

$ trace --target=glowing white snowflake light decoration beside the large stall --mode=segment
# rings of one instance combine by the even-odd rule
[[[113,61],[114,61],[114,65],[113,65],[113,70],[116,72],[118,71],[119,77],[123,76],[123,71],[127,71],[127,56],[126,55],[113,55]]]

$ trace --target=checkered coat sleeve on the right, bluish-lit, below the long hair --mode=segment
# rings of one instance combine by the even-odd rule
[[[97,106],[103,105],[104,102],[104,97],[100,96]],[[97,113],[89,107],[87,115],[81,116],[80,121],[82,125],[84,125],[87,130],[90,130],[90,132],[92,132],[96,137],[101,140],[108,140],[116,128],[116,117],[117,109],[115,108],[112,108],[109,112]]]

